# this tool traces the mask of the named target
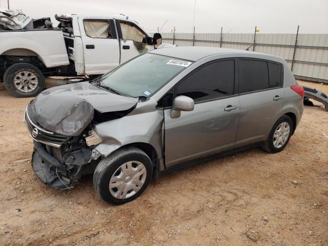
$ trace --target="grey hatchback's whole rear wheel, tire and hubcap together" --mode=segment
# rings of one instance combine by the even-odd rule
[[[270,153],[282,151],[291,138],[293,127],[293,121],[289,116],[280,117],[273,126],[268,140],[262,145],[262,149]]]

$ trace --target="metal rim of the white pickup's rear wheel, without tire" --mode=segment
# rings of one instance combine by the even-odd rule
[[[37,76],[30,71],[20,71],[14,77],[14,85],[21,92],[34,91],[38,85]]]

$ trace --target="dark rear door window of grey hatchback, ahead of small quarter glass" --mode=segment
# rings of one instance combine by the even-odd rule
[[[269,88],[267,61],[239,59],[239,93],[259,91]]]

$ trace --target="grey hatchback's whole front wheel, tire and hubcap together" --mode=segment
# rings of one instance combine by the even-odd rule
[[[144,192],[152,173],[152,162],[145,152],[138,148],[122,149],[99,162],[93,186],[104,201],[122,204]]]

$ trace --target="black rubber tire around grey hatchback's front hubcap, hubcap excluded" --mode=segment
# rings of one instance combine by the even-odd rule
[[[109,189],[109,182],[116,170],[128,161],[139,161],[146,168],[146,180],[144,185],[133,196],[125,199],[114,197]],[[138,148],[124,148],[102,159],[93,174],[93,187],[98,196],[111,204],[123,204],[136,199],[148,186],[153,173],[153,166],[149,156]]]

